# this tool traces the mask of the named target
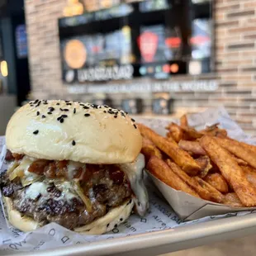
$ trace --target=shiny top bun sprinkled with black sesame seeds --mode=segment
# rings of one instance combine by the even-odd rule
[[[38,159],[122,164],[136,159],[142,138],[123,111],[59,100],[21,107],[7,125],[6,143],[12,153]]]

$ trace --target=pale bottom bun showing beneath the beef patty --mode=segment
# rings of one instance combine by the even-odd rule
[[[21,213],[13,208],[12,199],[3,197],[3,200],[7,209],[8,220],[15,228],[23,232],[31,232],[42,226],[30,217],[21,216]],[[129,218],[133,206],[133,200],[125,201],[123,205],[111,209],[106,216],[102,216],[92,221],[91,224],[79,227],[74,231],[90,235],[102,235],[107,233]]]

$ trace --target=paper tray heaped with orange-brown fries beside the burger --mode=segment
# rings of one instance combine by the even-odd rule
[[[147,173],[182,220],[256,209],[256,146],[222,125],[198,130],[185,115],[163,136],[138,124]]]

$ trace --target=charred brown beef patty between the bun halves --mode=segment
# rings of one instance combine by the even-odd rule
[[[2,194],[12,198],[17,211],[43,224],[56,222],[70,230],[105,216],[112,207],[120,206],[129,199],[132,193],[125,173],[115,165],[86,165],[80,187],[91,201],[91,211],[72,186],[67,189],[66,184],[70,186],[71,183],[42,175],[40,183],[22,187],[20,178],[11,182],[7,173],[0,177]],[[40,189],[31,187],[37,185]]]

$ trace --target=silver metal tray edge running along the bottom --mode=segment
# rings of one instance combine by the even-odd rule
[[[91,244],[79,244],[60,249],[26,252],[16,255],[159,255],[189,249],[203,244],[212,244],[224,239],[235,239],[256,233],[256,214],[212,220],[186,225],[173,230],[156,231],[126,238],[109,239]]]

